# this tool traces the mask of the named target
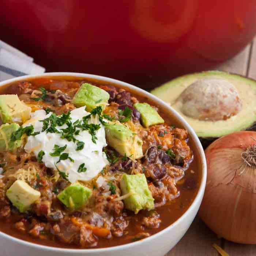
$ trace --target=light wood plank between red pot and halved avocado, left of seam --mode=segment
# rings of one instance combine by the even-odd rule
[[[250,47],[251,47],[251,44],[247,45],[245,49],[242,50],[242,52],[238,53],[236,56],[225,61],[224,63],[217,65],[214,69],[231,72],[231,73],[237,73],[237,74],[246,76],[249,54],[250,54]],[[256,67],[256,56],[255,56],[255,67]],[[255,70],[255,75],[256,75],[256,70]]]

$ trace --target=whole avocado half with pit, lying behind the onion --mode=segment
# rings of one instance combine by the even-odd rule
[[[221,71],[180,76],[152,94],[187,120],[204,147],[232,132],[256,130],[256,81]]]

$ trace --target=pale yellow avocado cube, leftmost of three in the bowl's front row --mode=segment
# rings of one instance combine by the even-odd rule
[[[39,199],[41,193],[31,188],[25,181],[16,180],[6,191],[6,196],[20,212],[26,212],[31,204]]]

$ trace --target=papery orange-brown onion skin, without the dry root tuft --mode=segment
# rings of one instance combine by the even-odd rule
[[[207,183],[199,215],[220,237],[242,244],[256,244],[256,167],[241,158],[252,145],[256,132],[241,131],[205,150]]]

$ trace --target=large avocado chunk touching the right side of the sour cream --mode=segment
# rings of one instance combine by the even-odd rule
[[[126,155],[131,159],[139,159],[143,156],[142,140],[125,125],[108,124],[105,126],[105,132],[109,146],[119,154]]]

